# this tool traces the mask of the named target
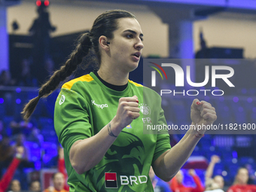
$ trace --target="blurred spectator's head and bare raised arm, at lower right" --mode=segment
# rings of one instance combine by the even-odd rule
[[[206,169],[206,183],[211,183],[211,185],[215,185],[212,184],[212,182],[215,182],[216,184],[218,184],[220,189],[223,189],[224,187],[224,178],[221,175],[215,175],[215,177],[212,180],[212,173],[213,173],[213,169],[215,168],[215,164],[219,163],[221,161],[220,157],[218,157],[218,155],[212,155],[211,157],[211,161],[209,163],[209,166]],[[209,181],[211,180],[211,181]],[[207,184],[206,184],[207,186]]]

